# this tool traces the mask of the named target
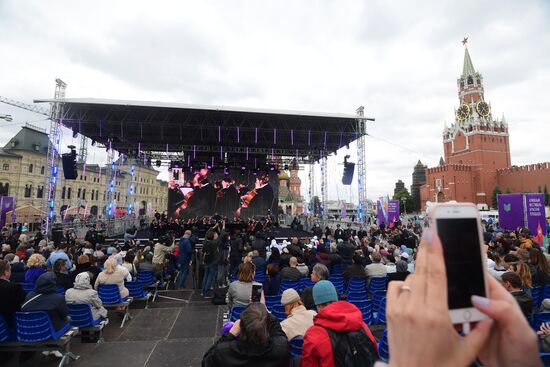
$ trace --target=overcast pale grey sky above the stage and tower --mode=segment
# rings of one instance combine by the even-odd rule
[[[443,154],[468,36],[485,98],[508,121],[512,163],[550,159],[548,1],[183,3],[0,0],[0,95],[31,103],[52,97],[61,78],[67,97],[342,113],[364,105],[376,118],[367,139],[374,199],[398,179],[408,187],[419,159],[433,166]],[[48,126],[0,104],[2,113],[14,118],[0,120],[2,145],[25,121]],[[345,153],[329,162],[333,199],[349,199],[337,185]]]

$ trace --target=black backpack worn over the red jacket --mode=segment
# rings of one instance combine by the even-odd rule
[[[378,360],[376,346],[363,327],[356,331],[324,329],[330,337],[335,367],[372,367]]]

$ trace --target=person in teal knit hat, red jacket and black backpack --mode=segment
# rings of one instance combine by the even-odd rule
[[[301,367],[368,367],[378,359],[376,340],[353,304],[338,301],[334,285],[313,286],[317,316],[304,335]]]

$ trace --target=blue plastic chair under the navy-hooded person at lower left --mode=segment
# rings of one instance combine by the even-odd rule
[[[56,331],[48,313],[45,311],[16,312],[15,328],[18,341],[38,343],[61,338],[71,328],[71,324],[67,323]]]

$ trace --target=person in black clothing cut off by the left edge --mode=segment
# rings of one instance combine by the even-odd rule
[[[0,315],[4,316],[8,326],[13,326],[16,312],[21,310],[25,292],[19,284],[10,282],[11,265],[9,261],[0,260]]]

